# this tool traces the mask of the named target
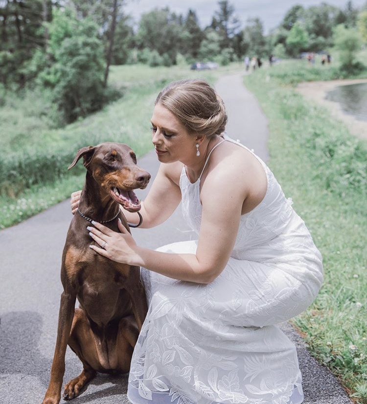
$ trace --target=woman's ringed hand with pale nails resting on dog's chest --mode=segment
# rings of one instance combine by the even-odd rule
[[[121,233],[114,232],[100,223],[92,222],[92,224],[95,227],[88,226],[87,229],[90,232],[89,235],[98,244],[98,246],[90,245],[92,250],[112,261],[135,265],[137,243],[120,219],[118,219],[118,230]]]

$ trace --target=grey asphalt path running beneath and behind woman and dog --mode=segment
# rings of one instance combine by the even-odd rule
[[[228,110],[229,136],[267,161],[267,120],[255,97],[243,86],[241,74],[224,76],[215,87]],[[139,165],[154,178],[158,169],[154,150],[141,158]],[[138,191],[138,197],[143,199],[146,192]],[[61,255],[70,219],[67,200],[0,231],[0,404],[42,403],[56,341]],[[195,237],[180,208],[164,224],[149,230],[133,229],[133,235],[138,244],[149,248]],[[298,349],[304,404],[350,404],[338,381],[310,356],[298,333],[289,324],[280,327]],[[68,348],[64,384],[81,369],[81,362]],[[73,403],[129,403],[126,389],[127,375],[98,375]]]

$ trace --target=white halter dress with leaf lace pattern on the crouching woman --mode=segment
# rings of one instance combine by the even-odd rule
[[[265,197],[241,216],[228,264],[213,282],[177,281],[142,269],[149,309],[130,369],[132,403],[303,401],[295,345],[275,324],[315,299],[321,254],[273,173],[257,159],[268,179]],[[180,188],[184,218],[199,233],[200,177],[191,184],[183,169]],[[195,254],[196,248],[190,240],[159,251]]]

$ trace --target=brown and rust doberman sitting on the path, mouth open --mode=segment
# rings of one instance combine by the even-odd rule
[[[87,226],[94,220],[118,231],[120,218],[129,229],[120,205],[129,212],[139,211],[140,203],[133,190],[144,189],[150,174],[137,166],[133,150],[122,143],[83,147],[69,168],[81,157],[87,168],[86,182],[79,214],[75,213],[71,220],[63,251],[64,291],[51,379],[43,404],[60,401],[68,344],[82,361],[83,371],[66,384],[64,400],[77,397],[97,372],[127,373],[147,312],[139,267],[95,253],[89,247],[94,241]]]

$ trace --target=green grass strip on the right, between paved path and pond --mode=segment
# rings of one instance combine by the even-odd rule
[[[256,71],[245,84],[268,118],[270,166],[323,256],[320,294],[294,325],[351,398],[365,404],[367,143],[293,89],[299,80],[329,77],[331,68],[315,73],[320,69],[287,62]]]

